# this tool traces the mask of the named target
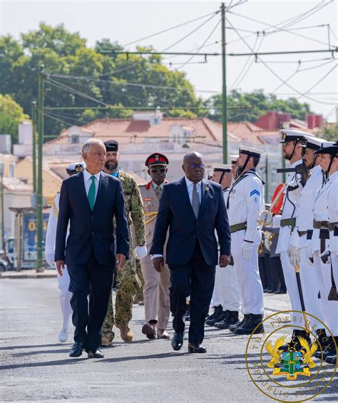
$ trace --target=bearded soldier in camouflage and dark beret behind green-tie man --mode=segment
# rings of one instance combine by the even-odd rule
[[[126,202],[126,215],[130,236],[129,259],[126,260],[123,270],[118,271],[117,273],[118,290],[116,292],[115,301],[115,321],[111,293],[106,319],[103,322],[102,345],[108,346],[111,345],[114,338],[114,323],[120,330],[121,338],[125,342],[133,341],[133,332],[130,330],[129,322],[132,317],[133,298],[142,286],[142,282],[136,270],[135,257],[138,259],[144,257],[147,255],[147,249],[145,248],[143,203],[138,185],[131,175],[118,169],[118,160],[120,158],[120,154],[118,153],[118,142],[113,140],[106,141],[105,146],[107,155],[103,170],[121,180]],[[133,250],[133,239],[130,231],[130,225],[132,223],[135,228],[135,245],[137,245],[135,250]]]

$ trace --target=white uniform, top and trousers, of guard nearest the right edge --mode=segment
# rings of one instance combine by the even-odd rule
[[[333,184],[338,178],[338,172],[329,176],[327,182],[317,193],[317,198],[314,203],[314,220],[316,221],[328,221],[328,201],[330,190],[333,189]],[[337,200],[336,200],[337,204]],[[336,205],[337,208],[337,205]],[[322,302],[323,310],[323,322],[329,330],[331,330],[334,336],[338,336],[338,301],[329,301],[327,299],[332,287],[331,281],[331,267],[328,264],[324,264],[320,258],[320,240],[319,229],[314,228],[312,234],[312,252],[314,267],[317,274],[317,282],[319,283],[320,290],[320,302]],[[325,240],[325,248],[329,245],[328,240]],[[329,336],[329,335],[328,335]]]

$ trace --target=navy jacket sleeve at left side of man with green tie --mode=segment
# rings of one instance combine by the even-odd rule
[[[58,208],[58,225],[56,227],[55,260],[65,260],[66,236],[71,207],[68,200],[66,183],[63,181]]]

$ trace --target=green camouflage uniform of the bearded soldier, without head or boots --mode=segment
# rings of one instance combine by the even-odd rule
[[[113,298],[108,305],[106,319],[103,322],[103,334],[109,335],[113,340],[113,325],[128,325],[132,317],[133,299],[142,287],[140,273],[137,273],[135,255],[133,252],[133,237],[130,225],[135,229],[135,244],[145,245],[145,223],[143,215],[142,198],[135,179],[126,172],[119,171],[118,178],[121,180],[124,198],[126,202],[126,215],[129,225],[130,251],[129,259],[123,269],[118,271],[118,291],[116,292],[116,315],[114,321]]]

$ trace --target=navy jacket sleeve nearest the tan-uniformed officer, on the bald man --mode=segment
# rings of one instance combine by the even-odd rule
[[[168,187],[164,185],[160,198],[160,207],[158,208],[158,216],[155,223],[153,245],[149,251],[150,255],[164,255],[163,248],[165,239],[167,238],[170,219],[171,210],[169,206]]]

